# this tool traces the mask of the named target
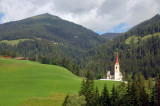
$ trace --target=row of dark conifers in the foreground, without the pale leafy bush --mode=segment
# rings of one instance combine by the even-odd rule
[[[109,93],[105,84],[101,95],[99,95],[97,87],[95,95],[92,95],[94,94],[93,90],[90,89],[92,88],[92,82],[88,83],[89,88],[87,81],[83,80],[79,95],[85,96],[87,106],[159,106],[159,82],[160,79],[157,76],[155,87],[150,92],[144,76],[139,72],[127,84],[122,83],[117,88],[113,85],[111,93]],[[92,93],[88,92],[87,88]]]

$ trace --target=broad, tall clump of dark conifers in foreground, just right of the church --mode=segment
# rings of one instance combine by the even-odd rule
[[[145,80],[141,73],[136,74],[134,80],[128,83],[122,100],[125,106],[147,106],[149,104]]]

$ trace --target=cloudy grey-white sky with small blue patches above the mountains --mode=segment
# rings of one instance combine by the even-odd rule
[[[160,14],[160,0],[0,0],[0,23],[43,13],[98,33],[124,32]]]

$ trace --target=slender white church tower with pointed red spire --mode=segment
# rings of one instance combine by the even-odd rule
[[[116,63],[114,66],[114,79],[115,80],[119,80],[119,74],[120,74],[120,70],[119,70],[118,52],[117,52]]]

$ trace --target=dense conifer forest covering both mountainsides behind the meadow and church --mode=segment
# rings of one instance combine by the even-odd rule
[[[84,76],[88,70],[94,78],[99,79],[106,77],[107,71],[113,73],[118,51],[124,79],[137,72],[142,72],[148,79],[160,74],[160,36],[151,36],[145,40],[140,37],[156,32],[160,32],[159,15],[104,44],[105,40],[91,30],[43,14],[0,25],[1,41],[30,39],[17,45],[0,43],[0,55],[34,58],[43,64],[66,67],[79,76]],[[125,41],[131,36],[139,37],[137,43],[132,39],[126,44]]]

